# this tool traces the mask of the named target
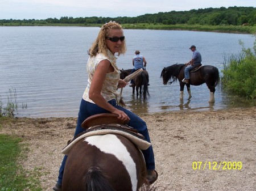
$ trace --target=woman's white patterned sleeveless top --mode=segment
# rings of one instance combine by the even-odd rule
[[[98,53],[94,57],[89,57],[86,65],[87,73],[88,73],[88,84],[84,91],[84,95],[82,99],[85,101],[89,101],[90,103],[94,103],[89,99],[89,90],[90,84],[92,83],[93,74],[95,73],[96,67],[98,63],[102,60],[109,60],[111,65],[114,68],[112,73],[107,73],[106,78],[103,82],[101,95],[104,97],[106,101],[110,101],[112,99],[119,100],[119,92],[117,91],[118,80],[120,79],[120,70],[116,65],[115,56],[108,50],[108,56],[105,56],[102,53]]]

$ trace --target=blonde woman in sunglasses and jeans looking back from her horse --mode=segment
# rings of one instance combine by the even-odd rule
[[[150,142],[146,123],[136,114],[117,105],[119,99],[117,88],[125,87],[128,83],[120,79],[115,55],[119,56],[125,52],[125,36],[121,25],[117,22],[104,24],[96,41],[88,51],[89,59],[86,66],[88,84],[82,96],[75,136],[85,130],[81,127],[81,124],[86,118],[98,113],[114,113],[118,114],[119,119],[129,121],[127,124],[137,129]],[[142,152],[146,161],[147,178],[152,184],[158,177],[155,171],[152,146]],[[66,160],[67,155],[64,156],[59,177],[53,190],[62,190],[61,185]]]

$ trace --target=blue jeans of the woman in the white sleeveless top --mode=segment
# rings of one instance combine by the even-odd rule
[[[127,125],[133,127],[134,129],[137,129],[139,133],[141,133],[145,139],[150,142],[150,137],[147,130],[146,122],[144,122],[141,118],[139,118],[136,114],[130,112],[129,110],[122,108],[121,106],[117,105],[117,102],[115,100],[108,101],[111,105],[113,105],[115,108],[122,110],[127,114],[127,116],[130,118],[130,121]],[[79,116],[77,119],[77,126],[74,137],[81,133],[82,131],[85,131],[84,128],[81,127],[82,122],[90,116],[93,116],[94,114],[99,113],[109,113],[106,109],[103,109],[101,107],[98,107],[98,105],[89,103],[88,101],[85,101],[82,99],[80,104],[80,110],[79,110]],[[147,150],[142,150],[142,153],[144,155],[144,159],[146,162],[147,169],[155,169],[155,158],[154,158],[154,152],[152,146],[147,148]],[[67,160],[67,155],[64,156],[63,161],[60,166],[59,170],[59,176],[57,182],[62,185],[62,179],[63,179],[63,173],[64,173],[64,167]]]

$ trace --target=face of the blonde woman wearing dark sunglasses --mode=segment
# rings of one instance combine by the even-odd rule
[[[109,35],[106,37],[112,38],[112,37],[122,37],[122,36],[123,36],[122,29],[110,29]],[[110,52],[112,52],[113,54],[116,52],[120,52],[122,43],[123,41],[121,41],[120,39],[117,42],[113,42],[109,39],[106,39],[106,46],[110,50]]]

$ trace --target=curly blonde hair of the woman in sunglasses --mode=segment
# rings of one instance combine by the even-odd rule
[[[115,21],[110,21],[106,24],[104,24],[100,32],[98,33],[97,39],[94,41],[92,46],[90,46],[90,49],[88,50],[88,54],[90,57],[96,56],[97,53],[102,53],[105,56],[108,56],[108,48],[106,47],[106,36],[109,35],[110,29],[123,29],[121,24],[115,22]],[[118,56],[120,54],[125,54],[126,52],[126,42],[125,40],[123,41],[121,45],[120,52],[118,52]]]

